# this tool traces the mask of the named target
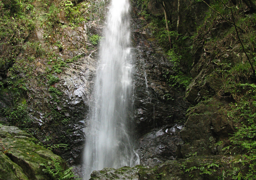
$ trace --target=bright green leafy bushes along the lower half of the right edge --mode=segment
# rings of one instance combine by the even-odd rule
[[[237,131],[230,137],[232,145],[227,146],[223,150],[227,153],[239,152],[242,154],[241,159],[237,159],[236,163],[242,163],[248,166],[248,172],[244,175],[245,180],[256,179],[256,85],[255,84],[239,84],[245,94],[240,95],[239,101],[233,106],[233,111],[229,116],[236,123],[241,123]],[[235,165],[235,164],[234,164]],[[235,168],[236,166],[233,166]],[[238,178],[242,174],[236,174]]]

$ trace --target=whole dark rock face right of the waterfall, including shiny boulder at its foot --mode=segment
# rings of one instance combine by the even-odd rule
[[[188,103],[184,92],[166,83],[164,72],[172,67],[152,36],[147,22],[133,6],[131,21],[134,60],[134,126],[139,143],[140,163],[156,165],[180,157],[180,128]]]

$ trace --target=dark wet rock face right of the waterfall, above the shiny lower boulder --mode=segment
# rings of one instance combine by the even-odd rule
[[[184,120],[188,105],[182,92],[165,83],[164,72],[172,64],[162,49],[148,40],[151,33],[143,26],[145,21],[133,18],[135,126],[139,134]]]

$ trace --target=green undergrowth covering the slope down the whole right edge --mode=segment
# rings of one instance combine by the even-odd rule
[[[233,156],[234,160],[229,163],[231,170],[222,168],[222,171],[226,172],[222,174],[221,179],[232,177],[232,179],[239,180],[254,180],[256,179],[256,85],[253,69],[256,68],[254,40],[256,14],[245,14],[244,9],[247,7],[244,3],[233,4],[233,1],[229,0],[213,1],[210,7],[212,9],[207,12],[207,21],[198,28],[198,34],[195,35],[198,39],[195,40],[200,41],[201,37],[204,37],[203,34],[208,35],[207,32],[210,28],[214,28],[213,25],[216,22],[230,21],[229,28],[204,41],[204,48],[214,49],[210,54],[211,63],[214,72],[222,77],[223,81],[218,96],[230,102],[227,118],[230,118],[236,126],[236,131],[230,134],[229,139],[223,143],[225,156]],[[232,8],[234,17],[227,7]],[[235,18],[238,34],[232,24],[232,18]],[[241,42],[238,41],[238,36],[242,39]],[[240,48],[232,46],[231,52],[235,54],[234,56],[227,50],[230,48],[228,45],[232,44],[231,41],[240,46]],[[224,47],[226,54],[222,53]]]

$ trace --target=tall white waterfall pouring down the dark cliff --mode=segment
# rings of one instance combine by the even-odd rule
[[[128,115],[133,109],[129,7],[129,0],[112,0],[110,5],[87,128],[85,180],[93,170],[139,163]]]

